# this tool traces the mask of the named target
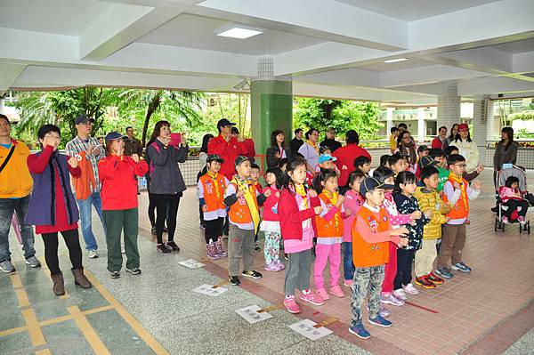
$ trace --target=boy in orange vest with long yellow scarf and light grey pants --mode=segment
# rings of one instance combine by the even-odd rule
[[[239,286],[239,260],[243,255],[243,272],[247,278],[262,278],[254,267],[254,237],[260,225],[258,204],[271,196],[271,190],[260,194],[250,180],[250,160],[236,158],[237,174],[224,192],[224,205],[229,207],[230,236],[228,238],[228,273],[231,285]]]

